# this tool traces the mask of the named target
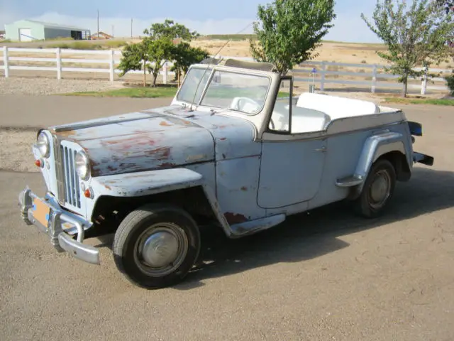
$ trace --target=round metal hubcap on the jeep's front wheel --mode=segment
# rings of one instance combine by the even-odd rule
[[[188,240],[184,231],[172,223],[155,224],[143,232],[135,244],[135,261],[149,276],[165,276],[184,261]]]

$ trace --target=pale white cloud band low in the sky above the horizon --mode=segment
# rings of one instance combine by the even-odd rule
[[[18,16],[18,13],[0,11],[0,23],[9,23],[18,19],[21,19],[21,17]],[[62,15],[56,12],[46,12],[41,16],[36,16],[31,19],[87,28],[91,30],[92,33],[97,31],[96,17],[75,17]],[[149,28],[151,23],[162,22],[164,20],[165,18],[134,18],[133,36],[143,35],[143,30]],[[243,28],[248,25],[248,28],[242,33],[253,33],[253,28],[250,23],[255,19],[226,18],[221,21],[212,19],[194,21],[184,18],[174,18],[174,20],[201,34],[231,34],[238,33],[238,31],[243,30]],[[375,34],[367,28],[359,15],[357,18],[352,16],[352,13],[338,13],[338,17],[336,18],[336,21],[334,21],[334,24],[335,26],[331,28],[331,31],[325,36],[326,40],[358,43],[375,43],[380,41]],[[111,34],[112,30],[114,30],[114,36],[116,37],[131,36],[131,18],[99,18],[99,31]]]

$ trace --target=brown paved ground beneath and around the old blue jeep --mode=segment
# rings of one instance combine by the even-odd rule
[[[21,104],[1,126],[31,127],[162,105],[2,101]],[[336,204],[245,239],[204,231],[208,265],[160,291],[118,274],[111,238],[90,240],[101,266],[57,254],[18,214],[20,190],[43,193],[40,175],[0,171],[0,340],[453,340],[454,117],[450,108],[403,108],[423,124],[416,150],[436,161],[398,184],[387,215],[363,220]]]

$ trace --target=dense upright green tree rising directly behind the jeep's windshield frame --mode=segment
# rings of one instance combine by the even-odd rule
[[[294,65],[311,60],[336,18],[333,0],[275,0],[258,6],[254,23],[258,43],[250,40],[255,60],[275,65],[285,75]]]

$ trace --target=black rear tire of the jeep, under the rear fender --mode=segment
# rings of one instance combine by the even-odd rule
[[[386,195],[384,195],[382,201],[375,202],[372,195],[372,185],[379,176],[385,178],[384,181],[387,183],[386,190],[384,190]],[[380,216],[382,212],[386,210],[389,200],[394,194],[396,178],[396,171],[391,162],[386,159],[378,159],[375,161],[367,175],[360,197],[353,202],[355,212],[366,218]]]

